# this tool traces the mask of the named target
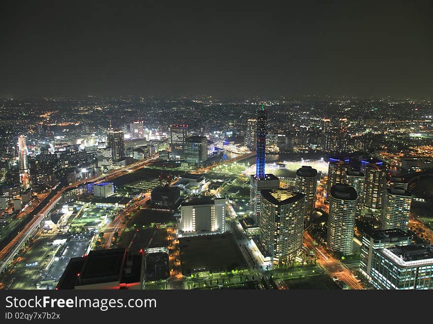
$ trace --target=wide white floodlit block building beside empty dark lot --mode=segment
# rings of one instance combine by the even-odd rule
[[[179,237],[221,234],[226,231],[226,199],[191,197],[180,207]]]

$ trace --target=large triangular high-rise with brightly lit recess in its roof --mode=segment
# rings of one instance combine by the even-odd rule
[[[261,190],[260,244],[274,264],[302,248],[305,195],[287,189]]]

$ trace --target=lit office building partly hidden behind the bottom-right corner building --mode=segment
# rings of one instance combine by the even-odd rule
[[[400,229],[370,230],[364,232],[361,245],[361,271],[371,280],[373,251],[412,244],[412,236]]]

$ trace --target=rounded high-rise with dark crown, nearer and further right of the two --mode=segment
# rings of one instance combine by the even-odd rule
[[[355,233],[356,190],[338,183],[331,187],[327,242],[331,251],[351,254]]]

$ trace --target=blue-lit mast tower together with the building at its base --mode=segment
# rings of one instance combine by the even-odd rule
[[[257,109],[256,124],[256,174],[249,182],[249,213],[256,224],[260,224],[260,190],[279,188],[279,179],[273,174],[265,174],[266,134],[268,119],[264,103]]]

